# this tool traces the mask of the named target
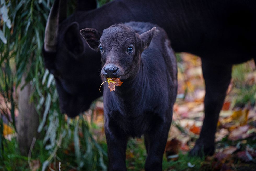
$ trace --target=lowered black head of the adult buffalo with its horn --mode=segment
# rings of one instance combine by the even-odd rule
[[[84,10],[96,8],[95,1],[87,3]],[[78,6],[83,10],[83,4]],[[69,117],[87,110],[102,95],[98,91],[101,56],[88,47],[80,29],[74,17],[66,18],[66,2],[55,1],[46,24],[43,56],[56,80],[61,111]]]

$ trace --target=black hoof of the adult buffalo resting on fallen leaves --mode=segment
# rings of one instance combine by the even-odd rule
[[[214,151],[214,145],[202,145],[196,143],[194,148],[189,152],[189,155],[198,157],[212,156],[214,154]]]

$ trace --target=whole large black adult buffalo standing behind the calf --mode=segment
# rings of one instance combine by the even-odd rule
[[[65,3],[55,1],[45,30],[45,66],[55,76],[62,112],[74,117],[101,96],[100,53],[89,48],[79,31],[95,28],[102,32],[119,22],[151,22],[166,30],[174,51],[202,58],[205,119],[191,154],[202,148],[213,154],[232,65],[256,60],[256,1],[115,0],[98,9],[92,9],[94,1],[77,6],[79,9],[66,18]]]

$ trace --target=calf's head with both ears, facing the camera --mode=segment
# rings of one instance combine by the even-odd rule
[[[130,27],[117,24],[105,29],[102,35],[91,28],[82,29],[80,34],[92,49],[101,52],[104,77],[127,79],[138,72],[141,52],[149,46],[155,29],[139,35]]]

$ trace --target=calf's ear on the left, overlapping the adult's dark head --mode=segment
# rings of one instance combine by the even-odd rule
[[[99,47],[101,34],[98,30],[94,28],[85,28],[80,30],[80,34],[92,49],[96,50]]]

